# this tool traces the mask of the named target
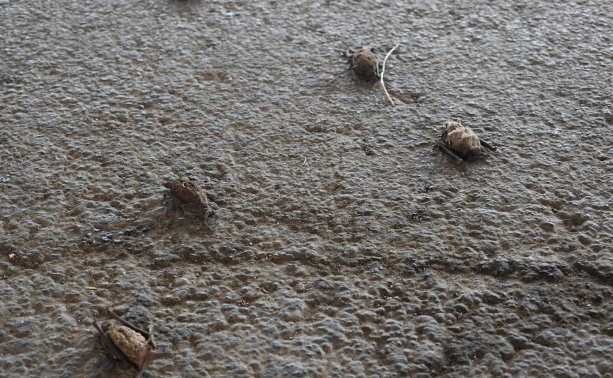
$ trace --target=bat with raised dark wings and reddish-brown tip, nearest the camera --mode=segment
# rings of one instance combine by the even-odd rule
[[[151,327],[148,332],[143,331],[116,315],[110,308],[107,308],[107,312],[122,325],[104,322],[102,326],[99,326],[93,319],[93,326],[100,333],[104,349],[107,349],[116,360],[132,365],[137,370],[136,378],[143,375],[145,369],[155,358],[172,356],[167,352],[153,350],[156,347]]]

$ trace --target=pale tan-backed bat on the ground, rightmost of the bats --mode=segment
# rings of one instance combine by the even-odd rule
[[[463,158],[474,158],[483,153],[483,147],[496,151],[496,147],[476,136],[471,128],[460,122],[445,122],[444,130],[437,144],[452,158],[462,162]]]

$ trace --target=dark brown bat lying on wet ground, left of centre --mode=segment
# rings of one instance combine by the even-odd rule
[[[201,219],[210,229],[206,220],[215,214],[215,211],[210,208],[208,198],[197,183],[181,178],[164,183],[164,187],[169,189],[164,192],[164,195],[171,197],[176,204],[181,206],[187,218]]]

